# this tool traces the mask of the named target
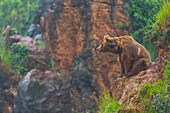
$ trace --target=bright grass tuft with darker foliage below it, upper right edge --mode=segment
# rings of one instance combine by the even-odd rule
[[[166,27],[168,17],[170,18],[170,2],[167,1],[157,14],[157,22],[153,24],[151,30],[146,32],[145,38],[155,42],[157,46],[169,45],[170,28]]]

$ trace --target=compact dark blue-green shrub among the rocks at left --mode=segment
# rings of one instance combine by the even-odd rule
[[[29,71],[23,66],[23,62],[28,55],[29,50],[25,45],[13,44],[11,46],[12,70],[16,74],[26,74]]]

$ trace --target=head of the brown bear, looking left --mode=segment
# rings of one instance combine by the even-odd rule
[[[109,35],[104,36],[104,40],[101,45],[96,48],[96,50],[99,52],[112,52],[114,54],[119,54],[122,52],[118,42]]]

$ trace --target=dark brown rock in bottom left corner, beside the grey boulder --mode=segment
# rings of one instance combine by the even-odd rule
[[[17,78],[0,61],[0,113],[12,113],[16,96]]]

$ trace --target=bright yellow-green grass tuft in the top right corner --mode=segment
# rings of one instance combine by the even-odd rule
[[[157,22],[160,23],[161,26],[165,26],[167,22],[167,18],[170,16],[170,2],[165,2],[158,12],[156,19]]]

